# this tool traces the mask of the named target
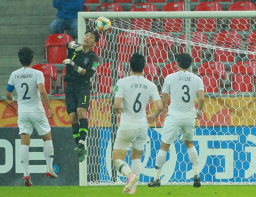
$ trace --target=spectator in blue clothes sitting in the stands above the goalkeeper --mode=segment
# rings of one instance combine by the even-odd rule
[[[84,10],[84,0],[53,0],[53,7],[58,9],[58,12],[55,20],[49,25],[51,34],[69,30],[68,34],[74,40],[77,39],[77,12]]]

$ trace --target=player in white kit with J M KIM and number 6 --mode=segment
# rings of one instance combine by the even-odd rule
[[[135,194],[141,172],[141,155],[148,134],[148,123],[154,122],[163,110],[163,105],[154,83],[142,77],[145,59],[135,53],[130,59],[131,76],[116,83],[114,110],[121,114],[120,126],[113,147],[115,168],[128,178],[123,193]],[[146,105],[152,99],[156,111],[146,117]],[[131,168],[124,161],[131,149]]]

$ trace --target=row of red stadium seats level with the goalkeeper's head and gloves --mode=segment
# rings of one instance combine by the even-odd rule
[[[161,33],[163,35],[171,36],[168,33]],[[185,39],[183,34],[180,39]],[[46,63],[58,64],[62,63],[67,57],[67,42],[72,41],[72,37],[68,34],[53,34],[46,39],[46,45],[44,47],[44,57]],[[200,44],[207,44],[207,37],[204,33],[193,32],[192,41]],[[146,38],[145,42],[145,57],[147,62],[152,63],[166,63],[171,58],[174,43],[172,41],[166,41],[159,38]],[[219,32],[213,37],[212,45],[219,47],[226,47],[231,49],[239,49],[241,47],[241,37],[236,32]],[[135,33],[123,32],[117,34],[117,62],[127,63],[134,51],[139,51],[141,46],[140,37]],[[252,32],[247,36],[246,49],[248,51],[256,51],[256,32]],[[102,35],[101,40],[92,48],[98,56],[104,57],[107,50],[107,40]],[[185,45],[178,45],[178,53],[184,53]],[[200,46],[192,46],[192,57],[194,62],[201,62],[204,58],[204,50]],[[125,53],[123,53],[125,51]],[[234,62],[238,56],[237,53],[231,51],[212,50],[214,54],[214,61],[218,62]],[[249,54],[248,59],[256,61],[256,55]]]

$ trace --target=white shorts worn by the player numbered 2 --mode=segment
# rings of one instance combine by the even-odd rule
[[[18,126],[20,133],[31,135],[33,126],[38,132],[38,135],[46,135],[51,131],[48,119],[45,113],[39,114],[18,114]]]

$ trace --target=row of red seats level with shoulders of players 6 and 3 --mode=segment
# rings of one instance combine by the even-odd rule
[[[52,64],[37,64],[32,68],[40,70],[44,73],[45,86],[48,94],[53,94],[55,89],[55,81],[57,80],[57,69]],[[117,77],[124,77],[124,69],[121,64],[116,65]],[[104,63],[97,67],[95,74],[94,87],[99,94],[110,93],[112,86],[111,63]],[[232,65],[229,75],[230,89],[234,93],[239,92],[255,92],[256,86],[256,62],[238,62]],[[177,63],[168,63],[161,69],[159,75],[158,68],[153,63],[147,63],[143,71],[143,76],[158,85],[158,76],[160,86],[163,86],[165,77],[169,74],[177,72]],[[65,93],[66,83],[63,77],[66,73],[66,66],[61,75],[61,93]],[[224,89],[224,80],[226,79],[226,69],[221,62],[205,62],[198,68],[198,76],[203,80],[205,92],[221,93]],[[232,93],[232,92],[229,92]]]

